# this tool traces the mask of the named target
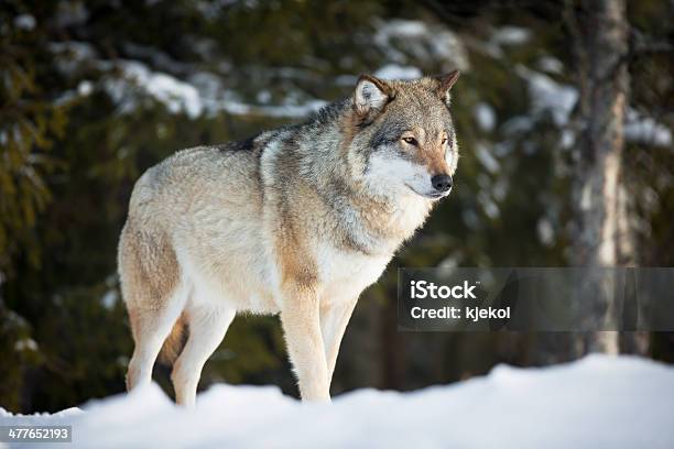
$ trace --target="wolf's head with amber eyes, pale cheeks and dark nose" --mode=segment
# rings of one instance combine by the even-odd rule
[[[458,147],[449,90],[459,73],[412,81],[363,75],[352,98],[351,162],[368,187],[383,195],[449,194]]]

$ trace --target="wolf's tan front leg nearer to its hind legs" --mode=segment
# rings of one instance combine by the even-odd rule
[[[330,401],[328,369],[320,335],[318,295],[307,286],[287,288],[281,310],[287,351],[303,401]]]

